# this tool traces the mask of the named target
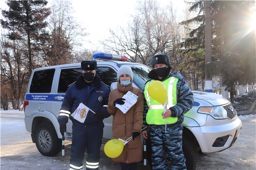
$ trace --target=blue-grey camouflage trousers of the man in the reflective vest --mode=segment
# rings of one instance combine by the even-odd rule
[[[170,155],[171,170],[186,170],[186,159],[182,150],[182,133],[181,124],[166,127],[166,133],[165,125],[150,126],[153,170],[167,170],[166,153]]]

